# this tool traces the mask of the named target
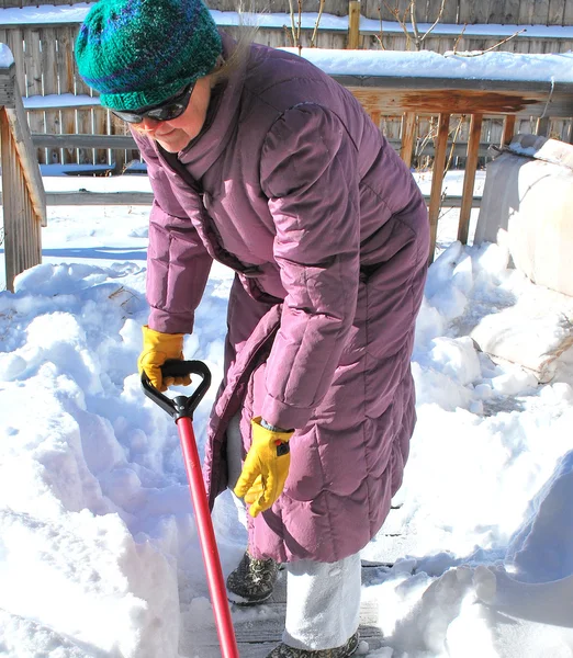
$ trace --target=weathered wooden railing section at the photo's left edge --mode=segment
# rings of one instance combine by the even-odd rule
[[[0,48],[5,60],[8,48]],[[42,262],[46,226],[44,185],[13,64],[0,67],[0,148],[5,283],[13,291],[14,277]]]

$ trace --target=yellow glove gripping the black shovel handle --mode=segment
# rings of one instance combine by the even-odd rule
[[[189,386],[191,377],[161,376],[161,365],[169,359],[183,360],[183,333],[161,333],[150,329],[147,325],[142,327],[144,347],[137,359],[139,375],[145,372],[151,386],[157,390],[167,390],[169,386]]]

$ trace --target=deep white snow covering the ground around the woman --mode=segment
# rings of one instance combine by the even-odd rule
[[[194,633],[214,632],[177,430],[135,374],[147,215],[49,207],[43,264],[0,293],[0,656],[194,658]],[[404,486],[362,556],[400,556],[363,588],[386,645],[370,656],[570,658],[573,354],[539,385],[476,351],[480,318],[518,299],[533,311],[535,286],[503,248],[454,235],[450,211],[417,324]],[[186,339],[215,382],[194,418],[200,450],[231,282],[215,264]],[[214,523],[228,572],[246,538],[231,494]]]

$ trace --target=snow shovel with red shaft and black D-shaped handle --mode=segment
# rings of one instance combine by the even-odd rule
[[[168,398],[151,385],[145,373],[142,374],[142,386],[145,395],[159,405],[164,411],[167,411],[177,423],[189,488],[191,490],[191,501],[195,512],[199,543],[201,544],[201,552],[205,564],[209,592],[213,603],[213,614],[215,616],[221,653],[223,658],[239,658],[235,631],[231,620],[225,581],[223,580],[221,560],[215,542],[215,533],[209,510],[205,485],[201,472],[201,461],[191,422],[193,411],[211,384],[211,372],[201,361],[168,361],[161,367],[161,374],[164,377],[182,377],[184,375],[200,375],[202,377],[201,384],[199,384],[190,397],[180,395],[173,399]]]

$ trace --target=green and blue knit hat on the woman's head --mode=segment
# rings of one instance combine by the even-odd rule
[[[99,0],[76,42],[80,76],[112,110],[162,103],[210,73],[221,52],[201,0]]]

